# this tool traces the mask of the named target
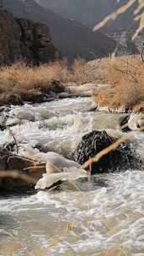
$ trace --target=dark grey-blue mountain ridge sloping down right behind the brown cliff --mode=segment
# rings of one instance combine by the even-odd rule
[[[97,56],[107,56],[115,50],[115,41],[106,35],[93,33],[76,21],[62,18],[48,8],[40,7],[34,0],[3,2],[16,16],[48,24],[56,49],[62,56],[67,56],[69,61],[77,56],[93,60]]]

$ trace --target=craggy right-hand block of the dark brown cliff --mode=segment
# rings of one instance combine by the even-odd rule
[[[45,24],[33,23],[27,19],[16,19],[21,30],[20,50],[28,61],[45,63],[59,56],[51,42],[51,35]]]

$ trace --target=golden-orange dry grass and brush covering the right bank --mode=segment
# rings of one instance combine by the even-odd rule
[[[144,102],[144,63],[140,56],[107,58],[101,61],[101,69],[104,72],[103,83],[110,86],[95,93],[95,102],[109,109],[141,109]]]

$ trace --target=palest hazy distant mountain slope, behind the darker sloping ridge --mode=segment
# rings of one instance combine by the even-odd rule
[[[104,19],[105,16],[115,11],[122,4],[127,3],[128,0],[35,0],[35,2],[63,17],[77,20],[85,26],[93,28],[101,19]],[[133,22],[134,7],[120,15],[115,21],[109,22],[104,27],[104,32],[109,33],[119,29],[133,28],[136,25]]]

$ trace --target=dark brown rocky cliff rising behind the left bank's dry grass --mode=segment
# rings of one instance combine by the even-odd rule
[[[0,9],[0,63],[24,59],[39,64],[53,61],[57,54],[45,24],[14,19],[12,13]]]

